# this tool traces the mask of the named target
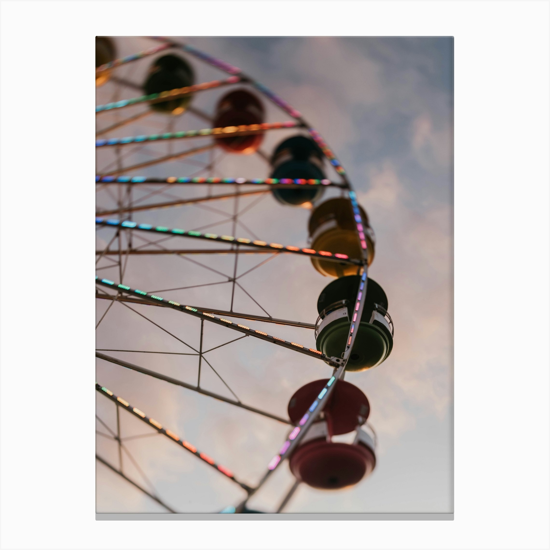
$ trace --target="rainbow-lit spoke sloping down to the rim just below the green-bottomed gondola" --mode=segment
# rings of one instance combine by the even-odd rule
[[[96,283],[97,284],[105,284],[106,286],[109,286],[109,287],[112,286],[111,282],[103,283],[102,281],[100,282],[98,279],[96,279]],[[125,286],[125,285],[123,285],[123,286]],[[236,331],[244,332],[245,334],[256,336],[257,338],[262,338],[262,340],[271,341],[272,343],[282,345],[285,348],[293,349],[295,351],[299,351],[300,353],[304,353],[306,355],[309,355],[310,357],[316,357],[318,359],[321,359],[321,360],[327,362],[329,365],[337,366],[337,364],[332,359],[330,359],[326,355],[323,355],[321,353],[321,351],[318,351],[316,349],[305,348],[303,345],[298,344],[296,342],[287,342],[287,340],[285,340],[284,338],[279,338],[278,336],[272,336],[270,334],[267,334],[267,332],[259,331],[259,330],[256,330],[256,329],[251,329],[250,327],[248,327],[244,324],[237,324],[237,323],[234,323],[233,321],[229,321],[228,319],[223,318],[223,317],[216,317],[216,315],[214,315],[213,313],[210,313],[208,311],[201,311],[201,310],[198,310],[196,307],[191,307],[191,306],[188,306],[188,305],[182,305],[182,304],[179,304],[178,302],[175,302],[173,300],[167,300],[165,298],[162,298],[162,296],[158,296],[156,294],[148,294],[148,293],[144,292],[143,290],[131,289],[130,287],[124,288],[122,290],[123,290],[124,293],[130,294],[130,295],[131,294],[139,294],[141,296],[144,296],[145,299],[150,300],[150,301],[155,301],[155,302],[161,301],[163,304],[166,304],[170,307],[173,307],[174,309],[177,309],[178,311],[189,312],[190,315],[196,315],[198,317],[202,317],[202,316],[210,317],[214,322],[222,324],[224,327],[233,328]]]

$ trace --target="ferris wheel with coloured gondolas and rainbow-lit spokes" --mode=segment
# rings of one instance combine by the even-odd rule
[[[386,360],[394,329],[387,296],[367,275],[375,256],[375,234],[344,167],[299,111],[243,70],[164,37],[149,37],[151,47],[118,57],[124,40],[96,37],[96,357],[102,369],[118,369],[117,387],[108,387],[99,376],[96,383],[98,441],[109,440],[114,449],[109,457],[98,445],[98,463],[173,513],[181,510],[149,481],[128,446],[130,439],[154,454],[157,444],[151,441],[158,439],[149,436],[160,436],[177,445],[178,452],[193,455],[216,479],[237,486],[233,502],[218,509],[205,505],[212,513],[257,511],[249,500],[285,461],[294,481],[280,491],[268,510],[272,513],[287,507],[300,484],[336,490],[360,483],[376,466],[376,434],[368,423],[366,395],[344,375]],[[223,78],[201,83],[197,74],[202,67]],[[138,68],[141,80],[135,78]],[[214,92],[218,95],[208,104],[210,111],[197,105]],[[256,177],[245,175],[252,159],[263,169]],[[270,217],[270,211],[277,216]],[[254,228],[248,218],[245,222],[251,215]],[[293,218],[304,215],[306,246],[281,243],[281,238],[271,241],[257,227],[264,224],[269,234],[277,229],[283,233]],[[185,225],[175,227],[169,223],[174,220]],[[224,226],[228,234],[213,233]],[[279,256],[276,269],[271,262]],[[311,301],[299,277],[288,276],[284,262],[290,261],[292,273],[309,270],[317,280],[324,277],[324,288],[315,297],[316,320],[272,316],[259,297],[262,279],[270,277],[267,294],[279,311],[295,309],[290,294],[285,300],[281,292],[289,280],[296,303]],[[241,306],[245,303],[249,309]],[[138,335],[130,334],[123,313],[142,323]],[[178,347],[137,349],[152,342],[151,331]],[[291,340],[291,332],[284,331],[296,337]],[[210,334],[222,343],[209,347]],[[134,349],[123,349],[132,339]],[[239,340],[240,354],[232,355],[232,345]],[[262,354],[284,350],[293,364],[328,366],[332,372],[289,390],[288,417],[274,414],[241,400],[211,360],[216,350],[223,354],[222,362],[239,364],[251,361],[260,349]],[[163,367],[161,357],[187,361],[185,376],[184,371]],[[285,436],[266,442],[273,458],[251,481],[246,460],[228,467],[224,456],[214,458],[212,450],[178,433],[171,419],[145,410],[146,395],[125,386],[130,373],[131,381],[162,381],[185,388],[186,395],[201,395],[203,403],[263,417],[282,425]],[[254,395],[261,372],[246,375],[248,393]],[[213,391],[209,379],[223,391]],[[107,408],[109,401],[114,407]],[[121,428],[124,416],[145,433],[126,436]],[[349,436],[345,442],[339,439],[344,434]],[[139,472],[141,481],[128,467]]]

